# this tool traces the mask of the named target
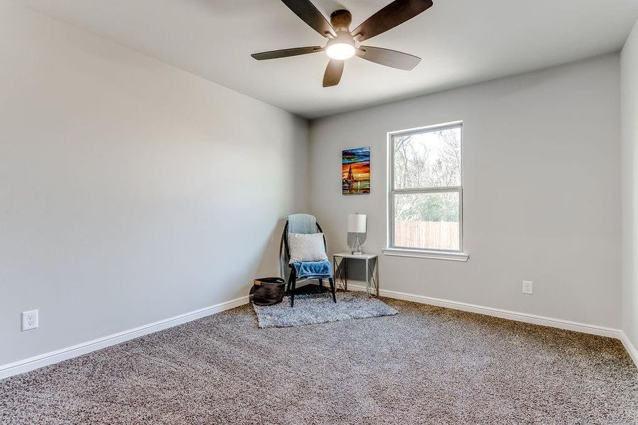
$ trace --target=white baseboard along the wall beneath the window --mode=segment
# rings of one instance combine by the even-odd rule
[[[348,289],[350,288],[354,290],[366,290],[366,287],[361,285],[348,285]],[[537,314],[513,312],[510,310],[502,310],[500,308],[493,307],[483,307],[482,305],[468,304],[466,302],[441,300],[440,298],[425,297],[424,295],[406,294],[394,290],[381,289],[379,290],[379,295],[381,295],[382,297],[396,298],[397,300],[420,302],[421,304],[436,305],[437,307],[447,307],[453,310],[462,310],[464,312],[486,314],[487,316],[516,320],[517,322],[539,324],[541,326],[583,332],[585,334],[609,336],[610,338],[620,339],[621,341],[622,335],[625,334],[620,329],[602,327],[595,324],[571,322],[569,320],[554,319],[553,317],[538,316]]]

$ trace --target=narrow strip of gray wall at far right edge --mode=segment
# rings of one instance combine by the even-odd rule
[[[621,55],[622,329],[638,347],[638,22]]]

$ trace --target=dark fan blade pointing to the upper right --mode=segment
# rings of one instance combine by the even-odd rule
[[[432,0],[395,0],[367,18],[352,31],[352,35],[355,37],[359,35],[357,39],[359,42],[373,38],[414,18],[432,7],[432,4]]]

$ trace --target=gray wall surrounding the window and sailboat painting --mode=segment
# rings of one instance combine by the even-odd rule
[[[314,121],[310,202],[330,251],[355,211],[365,248],[386,246],[386,132],[464,120],[469,261],[381,255],[382,288],[620,327],[619,69],[611,55]],[[371,194],[342,196],[341,150],[362,146]]]

